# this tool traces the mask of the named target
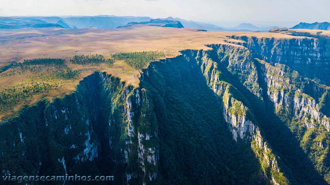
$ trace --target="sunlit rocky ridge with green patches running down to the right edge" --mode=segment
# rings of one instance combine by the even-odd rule
[[[287,123],[300,141],[301,147],[314,162],[318,172],[328,181],[330,120],[320,111],[317,101],[306,94],[312,93],[316,97],[322,97],[326,95],[328,88],[317,88],[322,86],[301,78],[295,71],[288,70],[286,73],[264,61],[256,60],[256,62],[260,64],[260,74],[267,84],[267,95],[274,103],[276,114]],[[314,87],[314,91],[307,91],[307,88],[299,89],[299,82],[304,84],[304,81],[305,84]]]

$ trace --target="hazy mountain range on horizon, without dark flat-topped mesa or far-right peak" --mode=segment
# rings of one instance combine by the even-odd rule
[[[179,21],[184,28],[195,28],[208,31],[233,31],[233,32],[268,32],[273,27],[257,27],[252,24],[242,23],[237,27],[225,28],[215,24],[204,22],[188,21],[181,18],[158,18],[161,20]],[[16,21],[13,21],[16,20]],[[0,19],[0,28],[25,28],[25,27],[63,27],[63,28],[116,28],[125,26],[132,22],[149,22],[154,20],[151,17],[135,17],[135,16],[115,16],[115,15],[97,15],[97,16],[33,16],[33,17],[2,17]],[[8,22],[11,22],[8,24]],[[27,24],[28,22],[28,24]],[[38,25],[34,25],[38,22]],[[47,24],[46,24],[47,23]],[[17,26],[19,25],[19,26]]]

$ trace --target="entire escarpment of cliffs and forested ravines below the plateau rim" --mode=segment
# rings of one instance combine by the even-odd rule
[[[0,124],[1,172],[328,184],[330,88],[315,73],[328,65],[323,41],[231,38],[242,41],[150,63],[139,87],[94,72],[76,91],[20,109]]]

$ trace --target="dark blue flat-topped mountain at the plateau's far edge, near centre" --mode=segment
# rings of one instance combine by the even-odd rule
[[[160,27],[171,27],[171,28],[184,28],[180,21],[177,20],[164,20],[164,19],[151,19],[150,21],[145,22],[129,22],[125,26],[118,26],[117,28],[121,27],[128,27],[132,25],[143,24],[148,26],[160,26]]]

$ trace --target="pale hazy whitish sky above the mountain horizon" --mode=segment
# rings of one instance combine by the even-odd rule
[[[0,16],[172,16],[220,26],[270,26],[330,21],[329,7],[329,0],[1,0]]]

